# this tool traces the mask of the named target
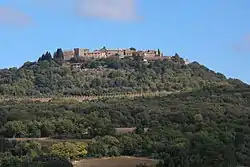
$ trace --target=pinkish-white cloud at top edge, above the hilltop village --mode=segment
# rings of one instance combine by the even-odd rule
[[[135,0],[76,0],[80,16],[111,20],[138,19]]]

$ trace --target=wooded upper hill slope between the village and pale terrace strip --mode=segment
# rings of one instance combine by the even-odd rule
[[[1,69],[0,95],[39,97],[180,91],[235,82],[197,62],[185,65],[178,55],[171,60],[148,62],[136,55],[124,59],[113,56],[71,60],[76,62],[81,64],[78,69],[46,53],[37,62],[26,62],[19,69]]]

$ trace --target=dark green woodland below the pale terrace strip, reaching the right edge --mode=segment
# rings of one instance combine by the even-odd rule
[[[168,167],[250,166],[250,89],[243,85],[135,100],[2,103],[0,110],[3,136],[93,138],[85,157],[146,156]],[[114,127],[137,130],[119,135]]]

